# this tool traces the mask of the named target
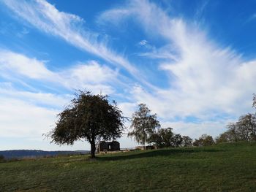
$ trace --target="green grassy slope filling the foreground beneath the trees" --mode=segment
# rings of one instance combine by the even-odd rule
[[[256,191],[256,142],[1,163],[0,191]]]

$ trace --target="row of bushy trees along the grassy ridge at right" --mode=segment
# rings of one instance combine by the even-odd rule
[[[256,95],[253,95],[252,107],[256,108]],[[156,118],[156,115],[155,117]],[[211,135],[203,134],[193,141],[188,136],[174,134],[173,128],[159,128],[158,131],[151,131],[147,139],[148,143],[161,147],[189,147],[189,146],[207,146],[221,142],[241,142],[256,141],[256,113],[241,115],[236,123],[229,123],[227,131],[220,134],[215,139]]]

